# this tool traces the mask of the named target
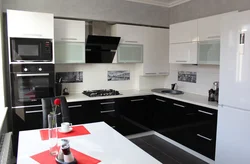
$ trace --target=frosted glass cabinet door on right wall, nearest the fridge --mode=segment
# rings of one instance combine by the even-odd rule
[[[220,40],[202,41],[199,43],[198,64],[220,64]]]

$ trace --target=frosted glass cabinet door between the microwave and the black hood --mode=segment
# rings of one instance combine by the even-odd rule
[[[55,42],[56,63],[85,63],[85,44]]]

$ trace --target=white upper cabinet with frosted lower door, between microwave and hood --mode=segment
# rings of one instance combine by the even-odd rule
[[[55,19],[56,63],[85,63],[85,21]]]

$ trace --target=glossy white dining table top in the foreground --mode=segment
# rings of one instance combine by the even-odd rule
[[[88,135],[66,137],[70,147],[99,159],[99,164],[160,164],[155,158],[115,131],[105,122],[83,124]],[[42,140],[40,130],[19,133],[17,164],[38,164],[31,158],[49,149],[49,141]]]

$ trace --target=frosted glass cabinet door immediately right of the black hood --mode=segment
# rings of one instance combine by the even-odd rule
[[[142,63],[143,45],[120,44],[117,54],[118,63]]]

